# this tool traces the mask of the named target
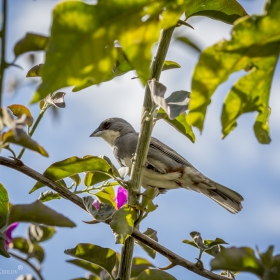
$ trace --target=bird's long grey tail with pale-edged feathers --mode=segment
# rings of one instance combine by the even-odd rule
[[[242,209],[241,202],[244,199],[239,193],[214,181],[209,181],[209,183],[207,182],[208,188],[199,188],[201,193],[210,197],[233,214],[239,212]]]

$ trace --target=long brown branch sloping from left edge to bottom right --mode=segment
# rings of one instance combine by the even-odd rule
[[[52,190],[59,193],[62,197],[65,199],[68,199],[72,201],[74,204],[82,208],[86,211],[86,208],[83,204],[82,199],[67,190],[66,188],[61,187],[59,184],[54,182],[51,179],[48,179],[41,173],[31,169],[30,167],[24,165],[21,163],[21,161],[18,160],[12,160],[5,157],[0,156],[0,165],[7,166],[9,168],[15,169],[21,173],[24,173],[25,175],[35,179],[36,181],[39,181],[46,185],[47,187],[51,188]],[[159,254],[165,256],[167,259],[170,260],[171,263],[180,265],[198,275],[201,275],[207,279],[214,279],[214,280],[228,280],[229,278],[215,274],[209,270],[206,269],[200,269],[195,263],[192,263],[179,255],[175,254],[174,252],[170,251],[166,247],[162,246],[161,244],[157,243],[147,235],[141,233],[139,230],[135,229],[133,230],[133,233],[131,235],[133,238],[137,239],[138,241],[143,242],[145,245],[149,246],[150,248],[156,250]]]

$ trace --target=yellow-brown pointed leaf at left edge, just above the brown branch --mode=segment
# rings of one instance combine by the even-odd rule
[[[16,134],[15,134],[16,133]],[[23,129],[15,128],[0,135],[1,145],[13,143],[48,157],[46,150],[26,134]],[[0,145],[0,146],[1,146]]]

